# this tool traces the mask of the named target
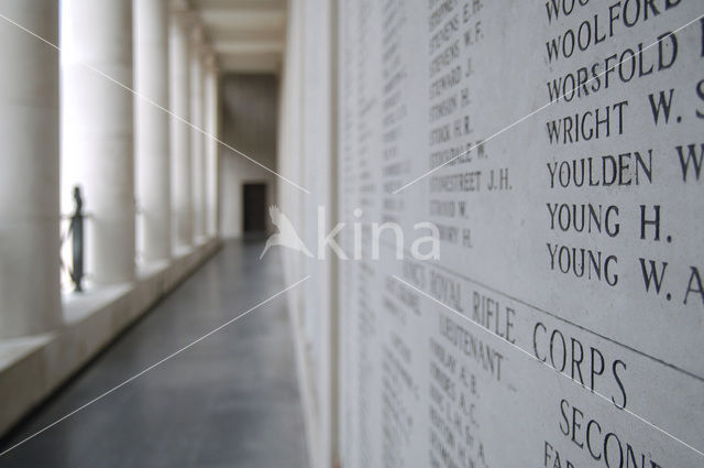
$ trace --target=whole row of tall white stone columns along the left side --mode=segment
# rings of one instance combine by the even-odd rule
[[[136,252],[168,261],[217,236],[217,142],[200,129],[217,133],[218,75],[194,13],[61,3],[61,110],[57,51],[0,21],[0,337],[62,323],[59,185],[82,189],[92,285],[133,281]],[[57,44],[58,4],[0,0],[0,12]]]

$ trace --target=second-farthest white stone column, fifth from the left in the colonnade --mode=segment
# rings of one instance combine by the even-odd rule
[[[190,154],[191,154],[191,184],[194,194],[194,242],[201,243],[206,236],[206,209],[205,209],[205,138],[204,129],[204,66],[202,52],[205,47],[205,36],[202,26],[197,24],[191,32],[191,55],[190,55],[190,122],[195,128],[190,130]]]

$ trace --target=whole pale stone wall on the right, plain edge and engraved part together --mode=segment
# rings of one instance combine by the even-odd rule
[[[309,248],[319,205],[327,227],[358,221],[359,207],[367,226],[396,220],[413,236],[416,222],[431,221],[444,232],[432,261],[396,261],[393,249],[381,260],[365,251],[361,261],[337,263],[283,252],[287,284],[309,276],[287,297],[314,468],[618,466],[619,454],[623,466],[701,466],[704,211],[701,179],[691,170],[684,178],[682,159],[688,145],[692,157],[701,154],[702,29],[692,19],[702,8],[668,2],[624,25],[642,4],[629,3],[614,37],[551,62],[547,40],[570,28],[583,33],[608,6],[574,2],[558,20],[546,2],[520,0],[289,0],[278,166],[310,194],[280,183],[284,213]],[[640,57],[650,59],[639,63],[642,76],[615,83],[612,74],[608,87],[601,81],[546,106],[546,83],[595,62],[597,70],[613,66],[612,53],[649,46],[669,31],[678,32]],[[674,55],[674,66],[648,72],[658,68],[657,54]],[[653,122],[652,98],[671,88],[681,96],[674,120]],[[626,99],[616,128],[614,106]],[[610,132],[602,127],[596,139],[560,144],[546,132],[552,119],[595,109],[602,117],[610,109]],[[652,182],[641,173],[640,184],[624,186],[550,185],[550,164],[628,148],[652,151]],[[624,170],[632,175],[635,166]],[[613,238],[560,232],[546,210],[552,203],[614,204],[623,229]],[[661,218],[667,240],[652,239],[652,230],[639,237],[656,204],[669,216]],[[346,232],[343,249],[355,236]],[[556,242],[615,253],[618,285],[551,268]],[[666,283],[676,291],[644,286],[650,257],[668,262]],[[541,359],[553,350],[547,334],[565,337],[565,353],[571,344],[571,376],[569,358],[563,372]],[[598,356],[608,360],[591,389],[574,367],[590,352],[597,368]],[[598,431],[592,424],[593,438],[580,443],[590,421]],[[587,444],[600,444],[600,460]]]

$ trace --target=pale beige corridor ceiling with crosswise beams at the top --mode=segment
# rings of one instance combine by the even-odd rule
[[[277,73],[286,0],[190,0],[223,73]]]

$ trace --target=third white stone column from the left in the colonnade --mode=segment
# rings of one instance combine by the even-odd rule
[[[168,2],[134,0],[138,252],[145,261],[172,252],[168,109]],[[152,101],[152,102],[150,102]]]

